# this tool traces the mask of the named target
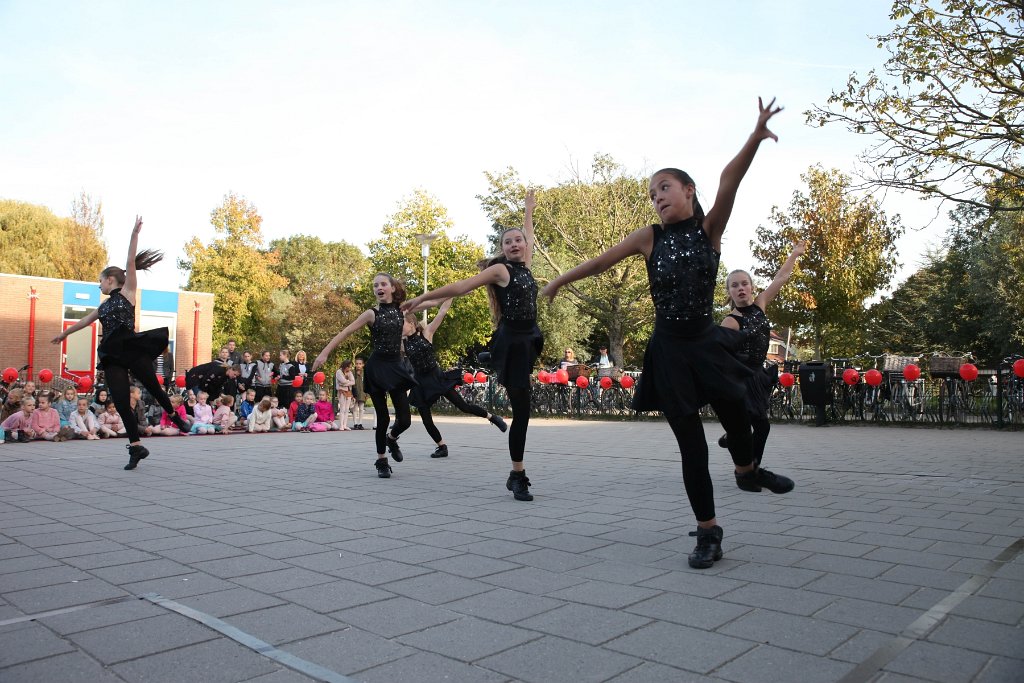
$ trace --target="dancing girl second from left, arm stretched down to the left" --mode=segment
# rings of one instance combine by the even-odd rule
[[[377,307],[362,311],[348,327],[335,335],[324,350],[313,360],[309,372],[321,368],[338,344],[356,331],[369,327],[373,353],[367,360],[364,381],[366,391],[374,401],[377,413],[377,476],[386,479],[391,476],[386,451],[391,458],[402,461],[398,447],[398,435],[409,429],[412,419],[409,413],[408,391],[416,386],[416,379],[401,357],[401,328],[404,319],[398,305],[406,300],[406,286],[386,272],[374,275],[374,296]],[[388,433],[391,416],[387,409],[388,396],[394,405],[394,427]]]

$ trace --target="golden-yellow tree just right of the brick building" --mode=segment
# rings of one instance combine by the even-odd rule
[[[193,238],[178,267],[188,273],[187,288],[215,295],[215,344],[228,338],[243,346],[267,341],[271,294],[288,282],[274,272],[278,255],[262,249],[263,219],[256,206],[234,194],[210,212],[214,239]]]

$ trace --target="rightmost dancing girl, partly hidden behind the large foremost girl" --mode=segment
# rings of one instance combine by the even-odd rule
[[[746,395],[744,396],[753,429],[751,455],[754,457],[754,462],[759,465],[764,459],[765,443],[768,441],[768,432],[771,430],[771,423],[768,421],[768,401],[771,398],[775,381],[778,379],[777,366],[768,369],[764,367],[765,358],[768,356],[768,344],[771,341],[771,323],[765,315],[765,311],[779,290],[782,289],[782,285],[790,280],[797,259],[803,256],[806,249],[806,242],[795,244],[793,253],[775,273],[771,285],[766,287],[756,298],[754,297],[751,273],[745,270],[733,270],[725,280],[725,289],[733,308],[732,312],[722,321],[722,327],[737,330],[743,335],[739,357],[753,372],[746,379]],[[718,444],[725,449],[729,447],[728,435],[718,439]]]

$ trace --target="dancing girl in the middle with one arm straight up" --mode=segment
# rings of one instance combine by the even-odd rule
[[[480,263],[480,273],[407,301],[406,312],[426,308],[431,300],[443,300],[468,294],[478,287],[487,288],[490,311],[498,329],[490,340],[492,367],[505,386],[512,407],[509,428],[509,456],[512,471],[505,482],[517,501],[531,501],[529,479],[523,465],[526,428],[529,426],[530,375],[537,356],[544,348],[544,336],[537,327],[537,281],[529,270],[534,259],[534,209],[537,199],[526,193],[522,228],[502,232],[499,256]]]

